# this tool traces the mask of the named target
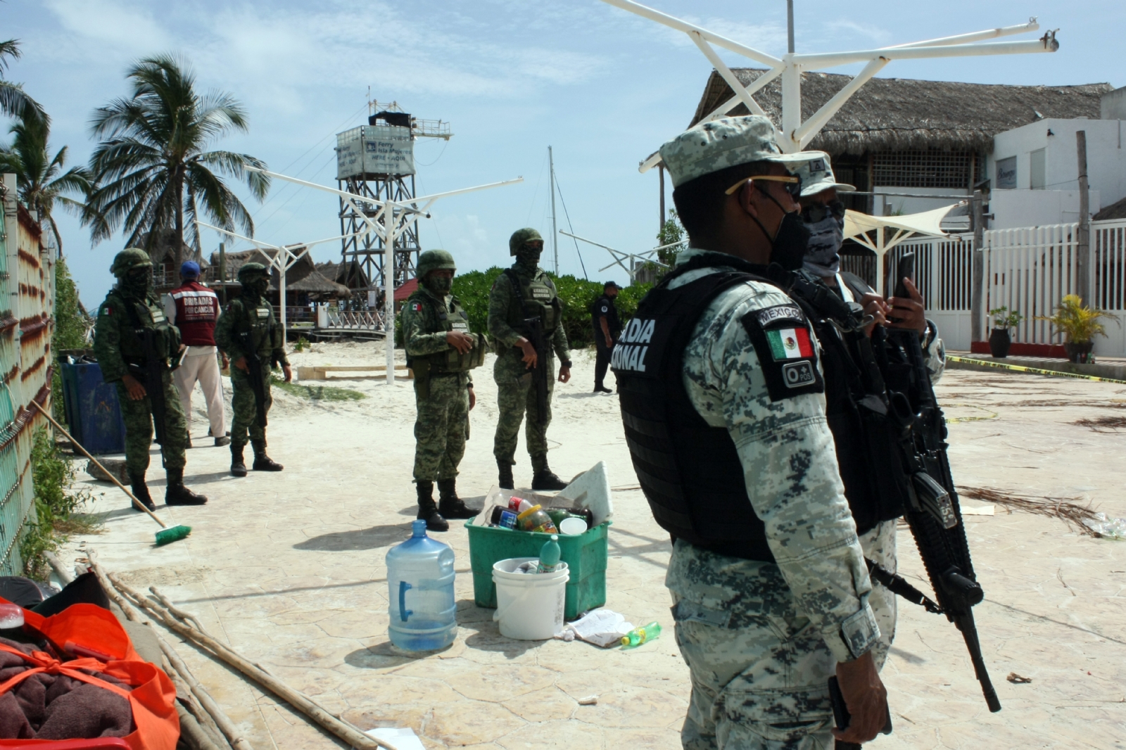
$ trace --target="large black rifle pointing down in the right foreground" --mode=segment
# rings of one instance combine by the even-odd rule
[[[974,574],[958,493],[946,456],[946,419],[930,384],[919,334],[915,331],[888,330],[887,336],[906,355],[906,364],[911,368],[911,395],[914,396],[909,399],[904,393],[891,393],[897,412],[903,413],[904,408],[910,408],[914,413],[910,431],[902,443],[911,475],[910,502],[904,518],[919,547],[938,607],[962,631],[985,703],[995,713],[1001,711],[1001,702],[985,669],[972,609],[985,598],[985,593]]]

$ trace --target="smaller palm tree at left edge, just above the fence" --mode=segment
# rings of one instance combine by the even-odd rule
[[[9,132],[15,137],[10,145],[0,145],[0,171],[16,173],[19,199],[29,211],[36,212],[41,224],[50,224],[62,255],[63,240],[52,211],[55,204],[62,204],[81,214],[83,204],[63,194],[84,197],[90,190],[90,172],[84,167],[71,167],[63,171],[66,146],[51,157],[47,145],[51,125],[47,119],[34,115],[19,117]]]

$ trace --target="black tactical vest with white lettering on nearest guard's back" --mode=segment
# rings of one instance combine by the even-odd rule
[[[767,279],[720,271],[667,287],[688,269],[669,274],[645,295],[614,347],[610,366],[626,444],[653,518],[673,538],[772,562],[765,526],[747,497],[735,444],[726,428],[712,427],[699,416],[682,381],[685,347],[712,301],[736,284]]]

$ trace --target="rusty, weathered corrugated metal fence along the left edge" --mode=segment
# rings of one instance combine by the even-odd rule
[[[54,256],[38,222],[16,200],[3,176],[0,226],[0,574],[23,572],[19,536],[34,520],[32,437],[43,418],[32,400],[51,395]]]

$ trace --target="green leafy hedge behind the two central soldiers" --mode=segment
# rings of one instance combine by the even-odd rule
[[[489,293],[497,277],[503,269],[490,268],[484,271],[470,271],[454,277],[454,296],[457,297],[470,316],[470,330],[479,333],[489,331]],[[593,345],[593,324],[590,307],[602,294],[602,283],[577,278],[571,275],[555,276],[548,274],[555,282],[555,288],[563,303],[563,330],[572,349],[581,349]],[[625,323],[637,311],[637,303],[652,288],[650,284],[634,284],[617,298],[618,315]]]

